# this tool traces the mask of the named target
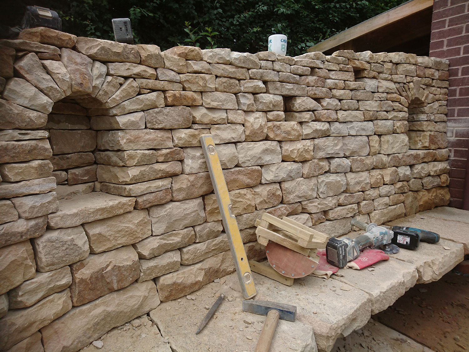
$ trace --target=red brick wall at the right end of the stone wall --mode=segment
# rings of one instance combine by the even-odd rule
[[[430,56],[449,60],[450,207],[469,210],[469,1],[435,0]]]

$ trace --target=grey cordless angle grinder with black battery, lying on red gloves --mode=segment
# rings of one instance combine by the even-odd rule
[[[394,236],[392,230],[375,223],[367,225],[356,219],[352,219],[350,223],[367,232],[353,239],[350,237],[330,238],[325,247],[326,260],[333,266],[345,267],[348,261],[356,259],[360,251],[366,247],[380,249],[386,254],[399,252],[399,247],[391,243]]]

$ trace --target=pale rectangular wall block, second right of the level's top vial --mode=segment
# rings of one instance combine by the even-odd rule
[[[239,166],[279,163],[282,160],[280,145],[276,141],[236,143]]]

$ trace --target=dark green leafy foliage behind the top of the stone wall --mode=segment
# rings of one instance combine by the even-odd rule
[[[112,18],[129,17],[136,43],[162,50],[185,43],[256,53],[267,37],[288,37],[295,56],[405,0],[81,0],[54,1],[62,30],[113,40]],[[47,6],[47,5],[45,5]]]

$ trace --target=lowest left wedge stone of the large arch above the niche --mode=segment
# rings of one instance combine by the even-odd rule
[[[52,111],[53,101],[41,93],[34,85],[22,78],[8,79],[2,96],[11,103],[44,114],[49,114]]]

